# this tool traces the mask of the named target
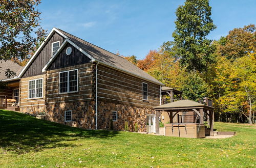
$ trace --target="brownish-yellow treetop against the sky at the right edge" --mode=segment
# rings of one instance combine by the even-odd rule
[[[256,27],[249,24],[243,28],[233,29],[229,31],[226,37],[221,37],[220,45],[217,50],[219,55],[231,59],[244,57],[248,53],[256,52]]]

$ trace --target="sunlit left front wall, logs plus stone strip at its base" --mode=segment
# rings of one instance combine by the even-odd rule
[[[29,81],[42,78],[42,98],[29,99]],[[45,111],[46,75],[23,77],[20,79],[20,111],[37,114]]]

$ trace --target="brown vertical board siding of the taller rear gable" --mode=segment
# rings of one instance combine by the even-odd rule
[[[59,41],[59,45],[61,45],[64,40],[65,38],[60,36],[58,33],[54,33],[51,39],[46,43],[45,47],[42,48],[41,51],[38,53],[36,59],[32,62],[32,64],[29,66],[29,68],[26,70],[22,77],[44,74],[42,73],[42,68],[44,68],[46,63],[52,57],[52,43]]]

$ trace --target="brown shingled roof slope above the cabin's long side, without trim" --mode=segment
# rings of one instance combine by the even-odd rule
[[[159,83],[160,85],[163,85],[160,81],[152,77],[151,75],[147,74],[134,64],[130,63],[129,61],[125,60],[122,57],[119,57],[118,55],[107,51],[103,48],[100,48],[94,44],[91,44],[87,41],[84,41],[78,37],[75,37],[65,31],[62,31],[60,29],[57,29],[61,33],[63,33],[65,36],[67,36],[73,43],[75,43],[78,47],[80,47],[82,50],[86,51],[88,54],[91,55],[96,61],[101,61],[103,63],[109,64],[111,66],[117,67],[119,69],[122,69],[127,72],[131,72],[139,77],[145,78],[147,80],[151,80],[153,82]]]

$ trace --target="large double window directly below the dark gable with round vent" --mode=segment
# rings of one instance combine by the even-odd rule
[[[76,69],[59,73],[59,93],[77,92],[77,72]]]

